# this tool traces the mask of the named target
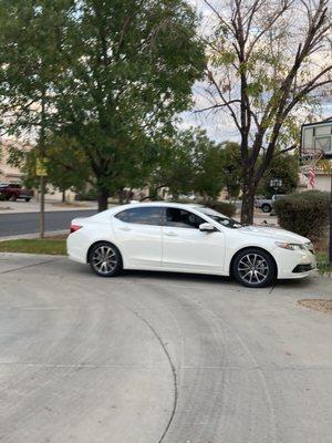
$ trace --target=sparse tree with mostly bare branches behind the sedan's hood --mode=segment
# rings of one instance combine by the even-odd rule
[[[240,133],[241,222],[276,150],[295,146],[297,115],[332,85],[331,0],[204,0],[207,105]],[[329,91],[330,87],[330,91]]]

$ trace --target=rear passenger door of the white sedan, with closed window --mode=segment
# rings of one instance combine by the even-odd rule
[[[125,267],[152,269],[162,266],[160,207],[142,206],[115,214],[113,227]]]

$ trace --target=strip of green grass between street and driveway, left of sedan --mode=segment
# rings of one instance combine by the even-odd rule
[[[33,238],[0,241],[0,253],[65,256],[65,238]]]

